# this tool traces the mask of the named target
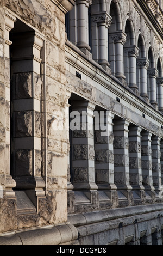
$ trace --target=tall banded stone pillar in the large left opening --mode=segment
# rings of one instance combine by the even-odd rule
[[[16,189],[37,206],[45,196],[41,176],[40,52],[43,38],[35,31],[12,33],[13,166]]]

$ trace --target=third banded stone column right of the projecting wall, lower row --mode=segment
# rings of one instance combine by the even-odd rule
[[[114,182],[117,190],[123,191],[130,202],[128,126],[126,119],[114,120]]]

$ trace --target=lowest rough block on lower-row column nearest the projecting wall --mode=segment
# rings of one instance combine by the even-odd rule
[[[73,180],[74,182],[87,182],[88,173],[86,167],[73,168]]]

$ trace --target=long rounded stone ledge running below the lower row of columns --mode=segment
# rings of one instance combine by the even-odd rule
[[[117,220],[118,218],[126,218],[142,214],[151,214],[152,212],[159,212],[163,216],[163,204],[150,204],[130,206],[126,208],[110,209],[97,212],[87,212],[79,215],[69,215],[68,222],[74,227],[80,227],[92,223],[100,223],[104,221]]]

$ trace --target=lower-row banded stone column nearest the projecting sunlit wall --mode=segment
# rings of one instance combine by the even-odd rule
[[[74,190],[97,190],[95,184],[95,150],[93,111],[95,105],[87,100],[71,101],[72,172]],[[75,112],[73,112],[75,111]],[[74,122],[77,124],[75,130]]]

